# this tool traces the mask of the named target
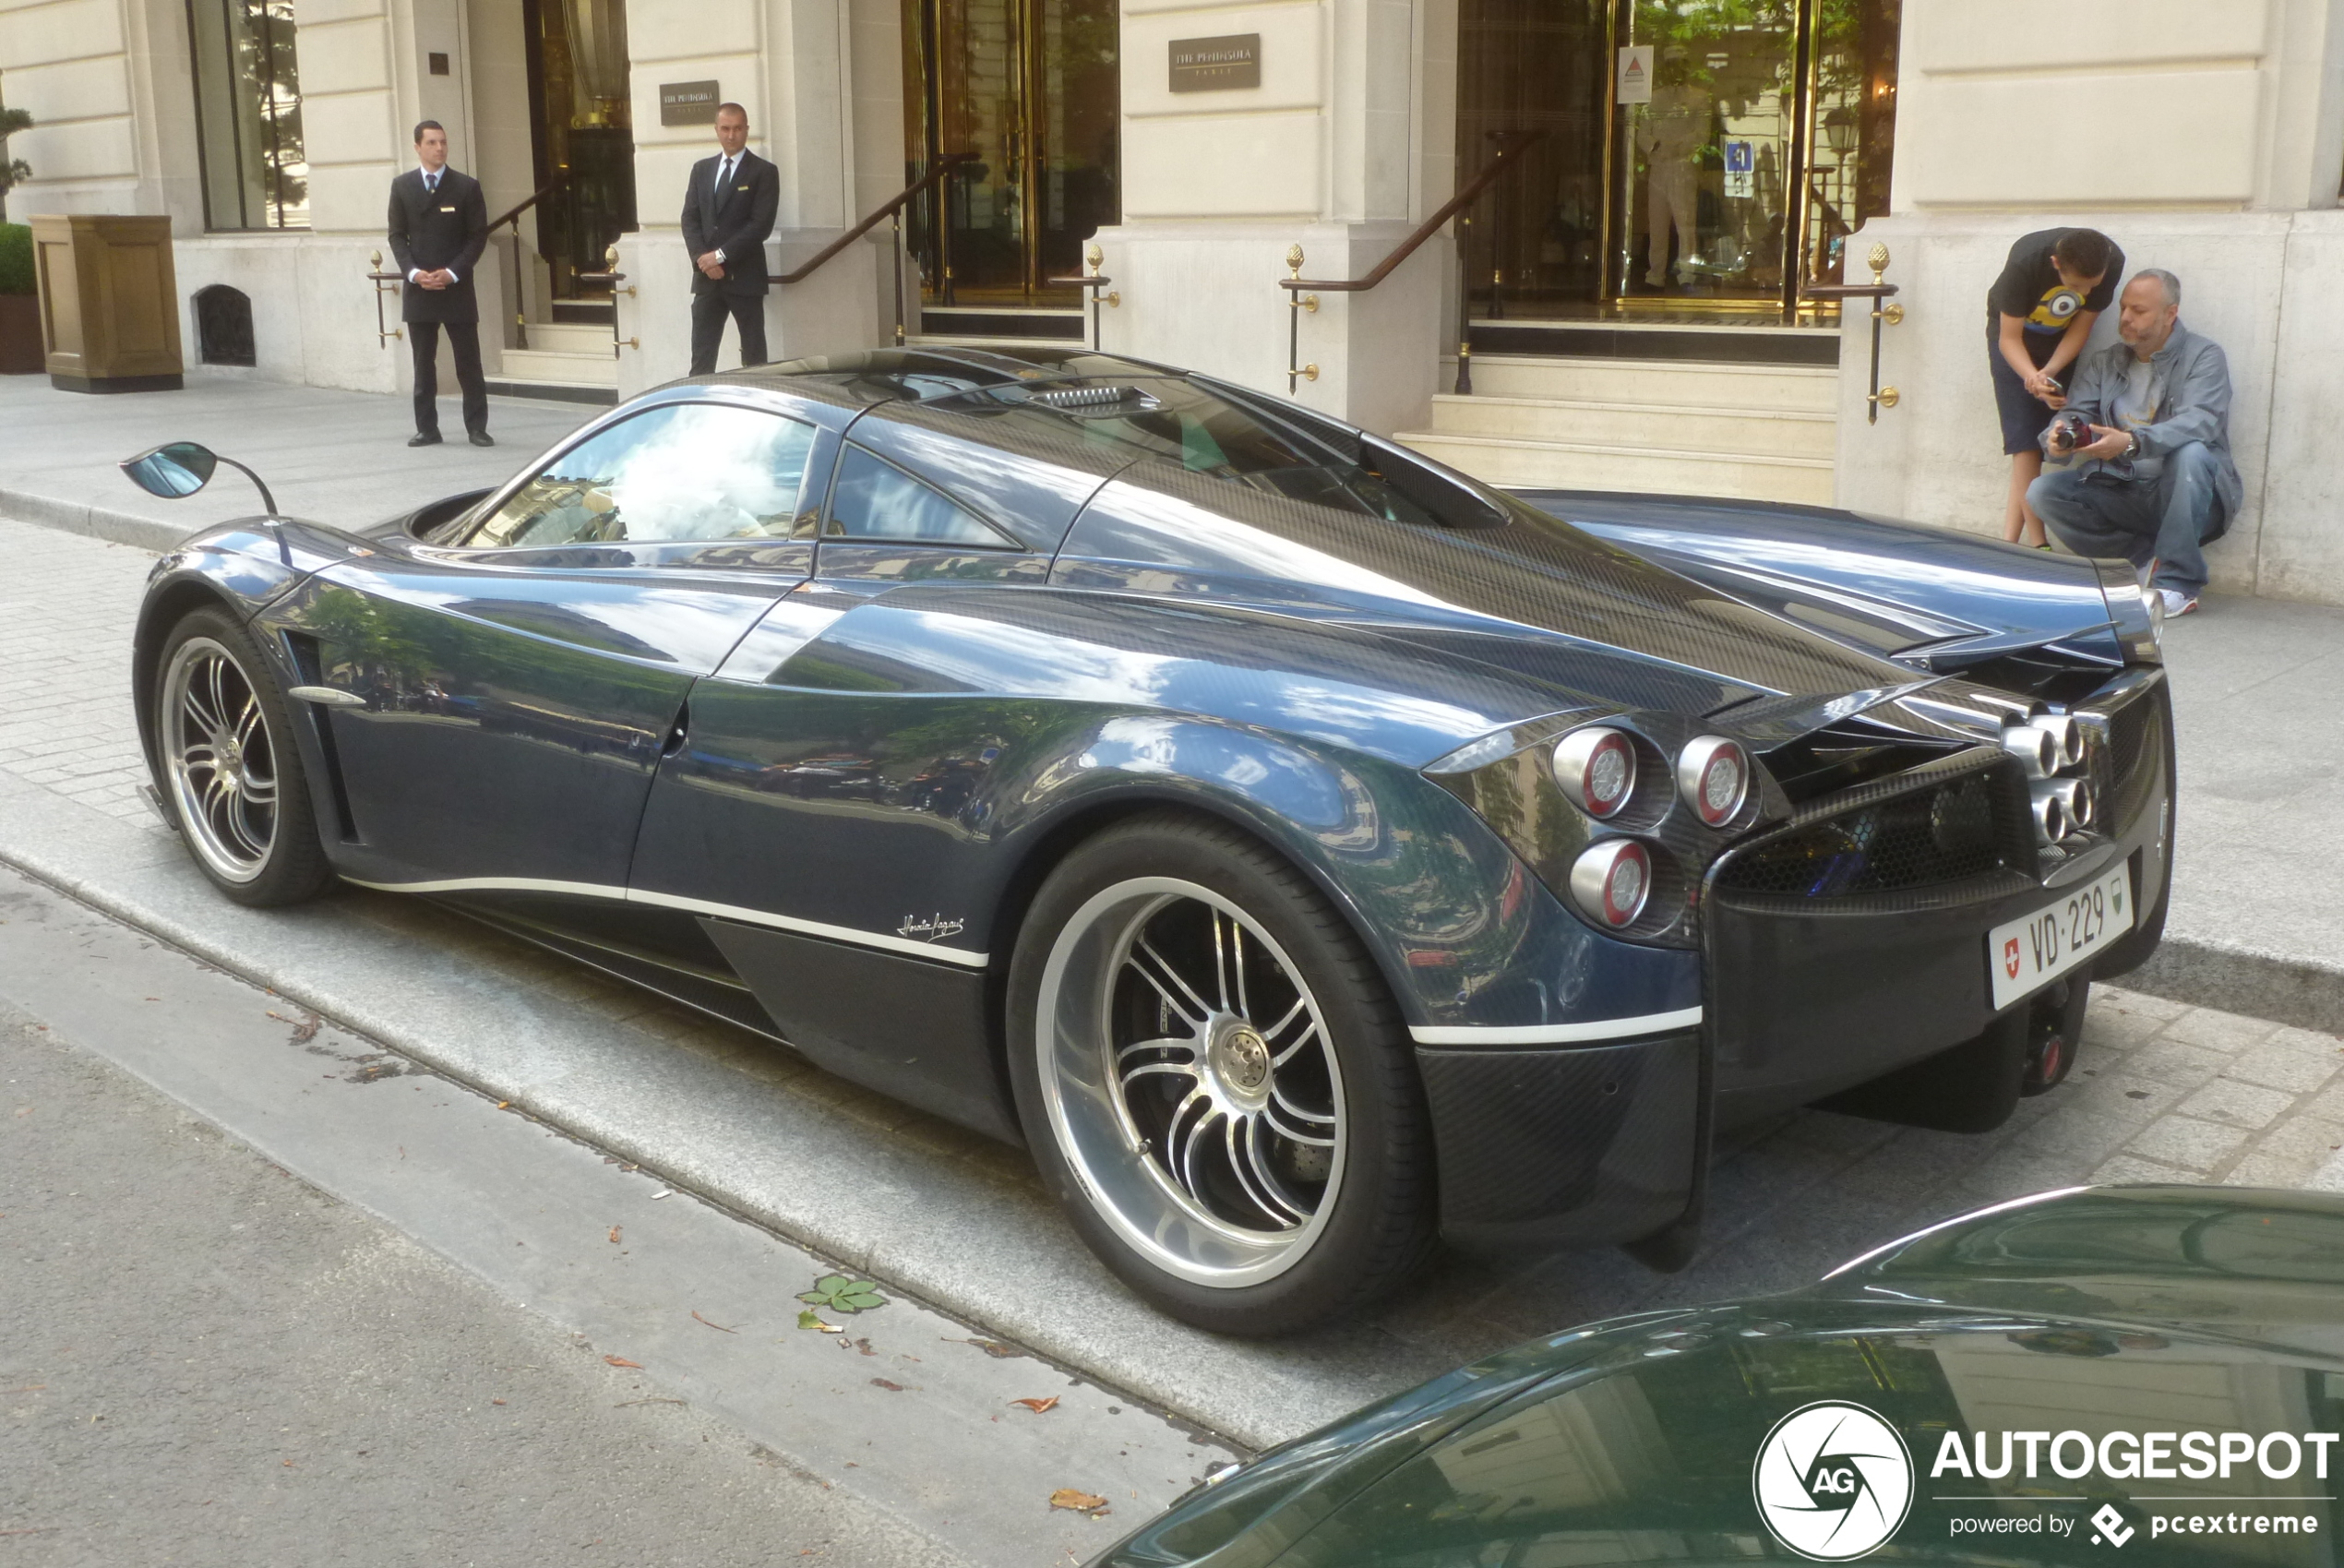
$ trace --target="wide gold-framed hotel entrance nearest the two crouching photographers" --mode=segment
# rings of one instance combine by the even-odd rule
[[[1460,183],[1484,319],[1814,321],[1887,211],[1901,0],[1463,0]],[[1828,312],[1826,312],[1828,319]]]

